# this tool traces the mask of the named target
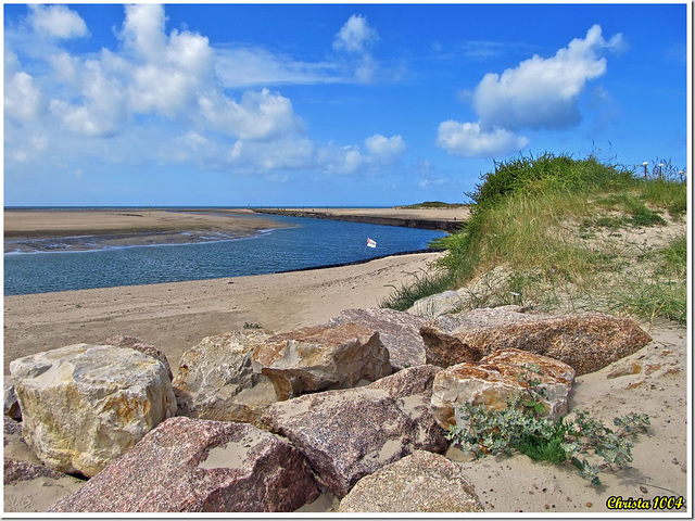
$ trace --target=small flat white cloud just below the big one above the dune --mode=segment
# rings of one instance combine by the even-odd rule
[[[478,123],[448,120],[440,124],[437,144],[463,157],[495,157],[518,152],[529,140],[502,128],[484,131]]]

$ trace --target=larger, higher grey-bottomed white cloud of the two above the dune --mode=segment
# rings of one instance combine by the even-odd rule
[[[619,49],[620,34],[606,41],[594,25],[584,39],[573,39],[555,56],[538,54],[502,75],[486,74],[473,93],[473,107],[485,129],[501,127],[563,129],[581,120],[577,106],[586,81],[606,72],[602,49]]]

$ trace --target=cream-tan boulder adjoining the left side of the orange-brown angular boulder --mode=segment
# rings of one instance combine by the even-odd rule
[[[251,354],[268,335],[235,331],[207,336],[181,356],[172,382],[179,415],[217,421],[254,422],[277,402],[273,382],[253,372]]]

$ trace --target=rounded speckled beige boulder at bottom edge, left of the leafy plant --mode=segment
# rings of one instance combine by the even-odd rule
[[[415,450],[359,480],[339,512],[482,512],[459,465]]]

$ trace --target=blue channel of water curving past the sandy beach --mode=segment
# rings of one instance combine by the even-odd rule
[[[427,247],[445,233],[273,216],[294,225],[248,239],[89,252],[4,255],[4,294],[153,284],[351,263]],[[377,247],[366,247],[367,238]]]

